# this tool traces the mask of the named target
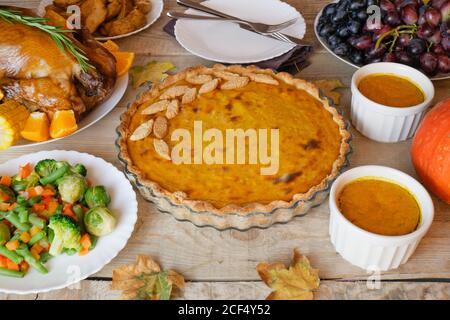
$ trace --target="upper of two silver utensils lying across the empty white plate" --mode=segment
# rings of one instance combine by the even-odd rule
[[[209,8],[207,6],[204,6],[200,2],[193,1],[193,0],[177,0],[177,3],[181,4],[183,6],[187,6],[189,8],[197,9],[197,10],[200,10],[203,12],[213,14],[215,16],[222,17],[224,19],[228,19],[228,21],[245,24],[245,25],[249,26],[250,28],[252,28],[254,31],[256,31],[258,33],[262,33],[262,34],[272,34],[274,32],[280,31],[282,29],[285,29],[285,28],[293,25],[298,20],[298,18],[294,18],[294,19],[288,20],[288,21],[280,23],[280,24],[268,25],[268,24],[264,24],[264,23],[250,22],[250,21],[246,21],[246,20],[243,20],[243,19],[240,19],[237,17],[233,17],[226,13],[223,13],[223,12],[214,10],[212,8]],[[202,17],[204,17],[204,16],[202,16]],[[214,20],[217,20],[217,19],[214,19]]]

